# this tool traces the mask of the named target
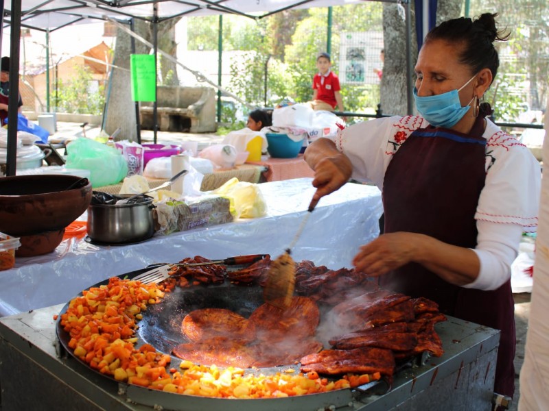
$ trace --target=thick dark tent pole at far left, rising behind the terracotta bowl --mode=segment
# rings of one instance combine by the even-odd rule
[[[15,175],[17,162],[17,105],[19,104],[19,41],[21,38],[21,0],[12,0],[12,44],[10,47],[10,94],[8,95],[8,148],[5,175]]]

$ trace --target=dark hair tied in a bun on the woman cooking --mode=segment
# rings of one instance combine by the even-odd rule
[[[474,20],[460,17],[444,21],[431,29],[425,36],[423,44],[427,44],[431,40],[463,43],[464,47],[459,61],[471,67],[471,71],[474,73],[478,73],[484,68],[490,69],[493,81],[500,66],[498,51],[495,50],[493,42],[509,39],[509,33],[505,34],[505,30],[498,31],[495,21],[497,16],[498,13],[484,13]]]

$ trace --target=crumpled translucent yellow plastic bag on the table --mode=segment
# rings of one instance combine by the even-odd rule
[[[257,184],[239,182],[233,177],[212,192],[231,201],[235,219],[255,219],[267,214],[267,204]]]

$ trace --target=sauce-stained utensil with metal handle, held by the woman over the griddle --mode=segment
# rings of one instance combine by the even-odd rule
[[[296,245],[297,240],[299,240],[317,203],[318,201],[311,201],[309,208],[307,209],[307,214],[303,221],[301,221],[301,225],[299,225],[290,247],[285,249],[283,254],[270,263],[267,281],[265,288],[263,289],[263,299],[266,303],[278,307],[281,310],[287,310],[288,307],[290,307],[296,284],[296,265],[290,256],[292,248]]]

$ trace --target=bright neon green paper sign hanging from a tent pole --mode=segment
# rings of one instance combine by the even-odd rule
[[[132,54],[130,56],[132,73],[132,100],[156,101],[156,70],[154,55]]]

